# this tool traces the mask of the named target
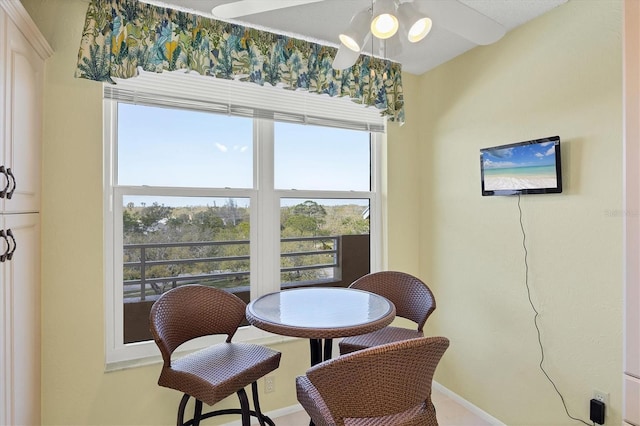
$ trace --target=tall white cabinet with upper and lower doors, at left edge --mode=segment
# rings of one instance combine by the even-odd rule
[[[44,61],[18,0],[0,0],[0,425],[40,416],[40,187]]]

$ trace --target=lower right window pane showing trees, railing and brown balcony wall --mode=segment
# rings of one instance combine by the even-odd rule
[[[280,225],[282,287],[348,285],[370,271],[368,199],[282,199]]]

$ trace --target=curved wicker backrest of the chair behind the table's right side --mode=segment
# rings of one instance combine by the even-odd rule
[[[422,331],[427,318],[436,309],[431,289],[419,278],[405,272],[374,272],[358,278],[349,287],[391,300],[396,305],[396,316],[418,324],[418,331]]]

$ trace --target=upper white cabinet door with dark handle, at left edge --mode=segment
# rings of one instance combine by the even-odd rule
[[[2,165],[5,170],[10,169],[13,176],[0,176],[0,184],[8,184],[7,189],[11,192],[11,199],[2,199],[3,209],[5,212],[35,212],[40,210],[44,61],[11,20],[6,19],[4,24]]]

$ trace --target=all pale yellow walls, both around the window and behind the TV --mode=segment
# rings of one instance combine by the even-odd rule
[[[172,424],[159,366],[104,372],[101,86],[73,78],[84,0],[24,0],[47,64],[43,177],[43,423]],[[387,263],[421,274],[452,345],[438,380],[508,424],[570,423],[537,369],[514,198],[479,195],[478,148],[559,134],[566,191],[522,200],[547,364],[572,413],[611,393],[620,423],[621,17],[573,0],[496,45],[405,76],[407,124],[389,126]],[[615,216],[615,215],[614,215]],[[419,231],[419,232],[418,232]],[[431,322],[431,320],[430,320]],[[306,342],[283,352],[263,408],[295,402]],[[235,404],[235,401],[232,401]]]

